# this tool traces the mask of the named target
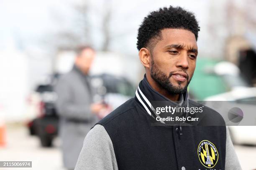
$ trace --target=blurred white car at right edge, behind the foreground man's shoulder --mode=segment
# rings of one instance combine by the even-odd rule
[[[233,107],[241,108],[244,123],[229,126],[230,138],[234,144],[256,145],[256,87],[240,87],[230,92],[207,97],[206,101],[227,101]],[[218,106],[220,108],[220,106]],[[215,108],[216,110],[216,108]],[[217,109],[218,111],[218,109]]]

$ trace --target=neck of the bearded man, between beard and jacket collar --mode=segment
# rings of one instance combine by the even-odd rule
[[[172,101],[179,100],[179,94],[170,94],[169,92],[167,92],[167,90],[160,87],[159,84],[155,80],[153,80],[152,77],[148,74],[146,74],[146,78],[148,80],[149,85],[151,85],[151,87],[157,92],[159,92],[161,95],[164,95],[164,97],[167,97],[169,100]]]

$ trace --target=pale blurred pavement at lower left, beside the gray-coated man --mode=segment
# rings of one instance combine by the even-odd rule
[[[62,165],[60,140],[53,148],[42,148],[36,136],[20,125],[7,127],[7,145],[0,148],[1,161],[32,161],[32,168],[0,168],[0,170],[65,170]]]

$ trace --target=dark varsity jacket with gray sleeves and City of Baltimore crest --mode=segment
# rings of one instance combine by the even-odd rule
[[[75,170],[241,170],[228,128],[218,112],[182,117],[200,121],[168,124],[156,117],[154,101],[172,107],[202,107],[187,92],[173,102],[146,80],[134,98],[97,122],[84,139]],[[168,113],[169,114],[169,113]]]

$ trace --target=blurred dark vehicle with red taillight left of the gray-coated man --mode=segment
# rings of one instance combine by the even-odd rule
[[[58,134],[58,115],[54,103],[56,93],[53,85],[58,74],[50,75],[46,83],[39,84],[28,97],[28,112],[31,120],[27,126],[31,135],[37,135],[41,145],[50,147]]]

